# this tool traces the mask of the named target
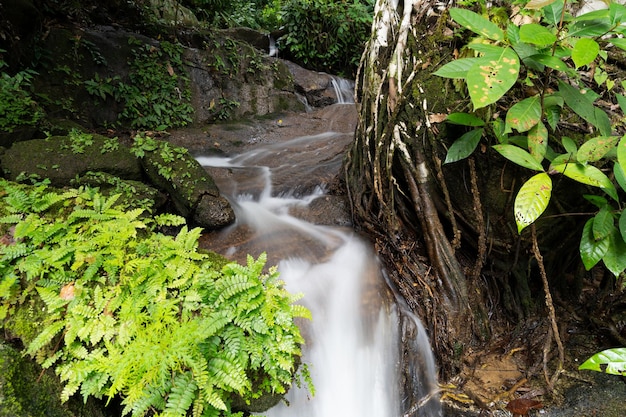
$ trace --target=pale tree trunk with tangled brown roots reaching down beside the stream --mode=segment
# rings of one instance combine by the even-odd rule
[[[433,4],[377,1],[358,73],[360,118],[345,174],[355,222],[374,236],[390,280],[426,322],[449,375],[476,329],[465,273],[433,192],[433,167],[440,162],[429,145],[436,130],[423,85],[433,59],[441,59],[433,39],[442,26]]]

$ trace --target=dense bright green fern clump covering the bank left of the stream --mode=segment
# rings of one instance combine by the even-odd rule
[[[95,189],[0,189],[2,327],[54,367],[64,400],[119,395],[133,416],[228,416],[236,398],[289,387],[303,343],[294,317],[309,312],[264,256],[218,262],[181,218],[122,210]],[[171,237],[163,226],[182,227]]]

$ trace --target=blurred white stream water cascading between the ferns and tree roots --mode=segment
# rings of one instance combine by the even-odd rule
[[[290,143],[305,141],[296,138]],[[275,145],[273,145],[275,146]],[[259,160],[260,154],[276,148],[256,149],[254,153],[233,159],[203,158],[205,166],[243,167]],[[250,166],[250,165],[247,165]],[[396,305],[387,305],[380,265],[372,248],[351,230],[316,226],[288,214],[289,207],[309,204],[321,194],[302,198],[272,196],[271,170],[256,167],[263,190],[229,196],[237,215],[237,228],[253,229],[254,239],[270,244],[285,237],[285,230],[306,244],[283,243],[282,260],[277,260],[281,278],[291,292],[302,292],[300,301],[312,312],[313,321],[302,326],[307,340],[303,361],[309,364],[316,394],[293,387],[287,403],[281,403],[264,415],[268,417],[398,417],[415,402],[436,392],[436,369],[426,332],[419,320],[397,314]],[[218,184],[219,185],[219,184]],[[236,190],[237,187],[234,187]],[[235,191],[236,192],[236,191]],[[253,197],[254,196],[254,197]],[[277,231],[281,231],[277,233]],[[303,246],[311,250],[303,251]],[[276,243],[273,245],[276,246]],[[321,249],[321,250],[320,250]],[[244,249],[245,250],[245,249]],[[293,251],[291,251],[293,250]],[[238,247],[230,256],[241,257]],[[321,253],[321,255],[320,255]],[[253,254],[257,256],[258,254]],[[271,253],[268,253],[271,256]],[[392,297],[387,297],[388,299]],[[400,379],[400,340],[402,326],[413,327],[413,343],[418,357],[407,377],[413,380],[411,404],[402,404]],[[406,335],[407,333],[405,333]],[[425,406],[408,416],[441,416],[437,395],[424,401]]]

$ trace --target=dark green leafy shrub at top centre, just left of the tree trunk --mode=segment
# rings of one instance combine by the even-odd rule
[[[372,25],[373,1],[288,0],[283,49],[298,64],[354,77]]]

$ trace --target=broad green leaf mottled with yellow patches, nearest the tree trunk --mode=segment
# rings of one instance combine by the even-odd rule
[[[517,81],[519,58],[511,48],[502,48],[499,55],[479,58],[467,73],[467,88],[474,109],[495,103]]]

